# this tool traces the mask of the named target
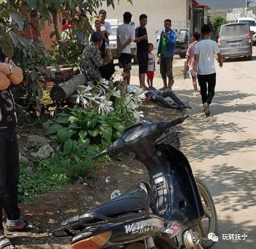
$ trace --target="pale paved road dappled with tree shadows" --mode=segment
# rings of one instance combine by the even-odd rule
[[[256,248],[256,49],[253,60],[228,61],[217,69],[211,117],[202,113],[191,82],[175,80],[175,91],[193,107],[183,125],[182,151],[196,176],[209,187],[219,220],[213,249]],[[138,79],[132,77],[134,83]],[[161,80],[155,80],[161,86]],[[246,234],[246,241],[223,241],[222,234]]]

